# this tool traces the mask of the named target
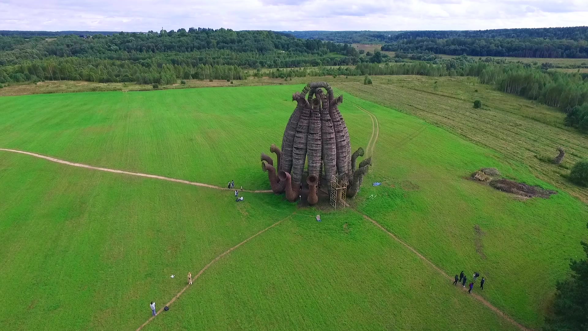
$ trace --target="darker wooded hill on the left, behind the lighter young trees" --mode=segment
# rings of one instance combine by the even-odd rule
[[[0,65],[19,59],[92,57],[101,59],[145,59],[159,52],[193,52],[225,49],[234,52],[289,51],[301,54],[328,54],[346,47],[335,42],[305,40],[272,31],[233,31],[231,29],[189,28],[147,33],[119,32],[82,38],[66,35],[57,38],[2,36]],[[4,54],[6,52],[6,54]]]

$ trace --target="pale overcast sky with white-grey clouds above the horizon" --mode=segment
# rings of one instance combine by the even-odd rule
[[[588,25],[588,0],[0,0],[0,30],[448,30]]]

